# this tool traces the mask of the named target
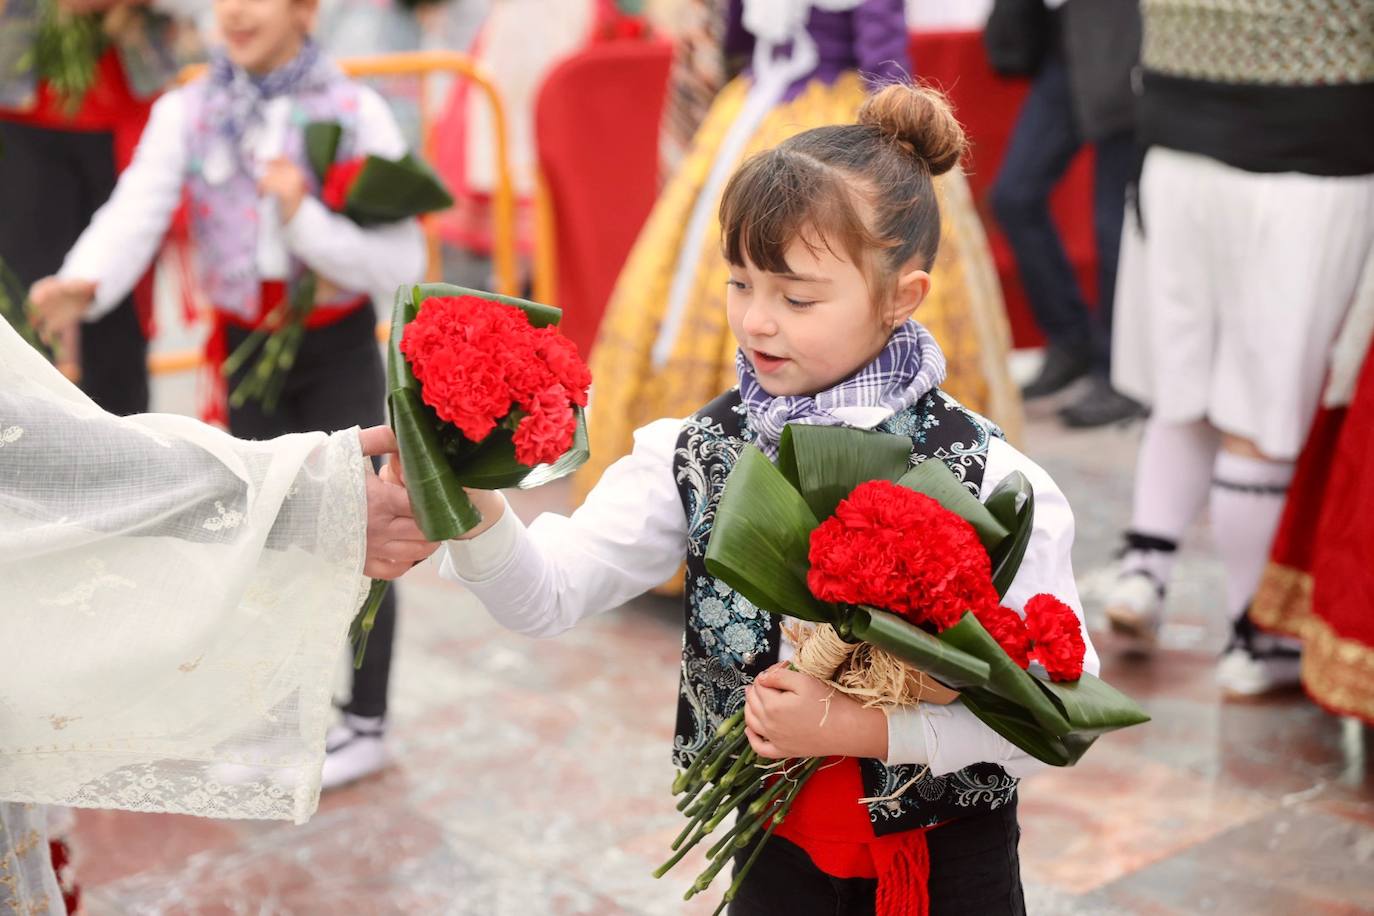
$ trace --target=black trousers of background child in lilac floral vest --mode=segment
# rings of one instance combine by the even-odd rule
[[[367,305],[335,324],[306,332],[276,409],[267,412],[256,401],[240,408],[229,407],[229,433],[245,439],[269,439],[287,433],[334,433],[352,426],[385,423],[385,379],[375,327],[376,316]],[[247,331],[229,325],[229,353],[247,335]],[[251,364],[250,360],[239,376]],[[229,379],[231,391],[239,376]],[[353,696],[345,711],[356,715],[386,714],[394,639],[396,593],[389,591],[367,640],[363,667],[353,672]]]

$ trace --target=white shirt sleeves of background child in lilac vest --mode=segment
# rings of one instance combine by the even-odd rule
[[[261,169],[282,154],[291,100],[264,106],[262,125],[245,137],[245,152]],[[397,159],[407,151],[396,118],[372,89],[359,92],[357,152]],[[133,162],[120,176],[114,194],[102,206],[58,276],[96,282],[95,301],[85,320],[93,321],[118,305],[139,282],[162,246],[172,214],[181,203],[187,176],[185,93],[176,89],[153,106]],[[317,198],[301,201],[286,224],[276,198],[258,198],[257,268],[264,280],[284,280],[295,255],[322,279],[341,290],[387,304],[396,287],[425,273],[425,236],[418,220],[361,228],[330,211]]]

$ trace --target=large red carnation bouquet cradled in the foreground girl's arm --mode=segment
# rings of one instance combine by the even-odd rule
[[[776,464],[745,449],[716,509],[706,569],[758,608],[809,622],[787,628],[793,667],[866,706],[958,699],[1057,766],[1077,762],[1105,732],[1149,721],[1083,672],[1087,647],[1073,608],[1051,595],[1030,599],[1024,618],[1000,604],[1030,540],[1029,481],[1011,474],[980,503],[937,459],[908,468],[910,453],[905,437],[819,426],[789,426]],[[721,909],[824,762],[761,759],[743,729],[741,709],[679,773],[673,792],[690,820],[657,872],[741,809],[687,891],[706,890],[736,850],[754,845]],[[798,817],[845,823],[835,805],[856,798],[831,798],[845,779],[838,772],[827,768],[826,791],[802,798]],[[857,835],[871,840],[867,814],[856,820]],[[805,845],[805,829],[793,839]]]

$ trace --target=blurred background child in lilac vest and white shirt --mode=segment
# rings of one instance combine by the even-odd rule
[[[315,5],[216,0],[224,48],[209,74],[154,106],[110,202],[58,276],[40,280],[32,293],[45,331],[98,320],[143,273],[183,194],[190,198],[201,288],[214,306],[212,357],[232,353],[290,283],[315,271],[319,301],[280,402],[271,412],[257,402],[231,407],[229,431],[239,438],[385,422],[372,301],[390,302],[396,287],[412,283],[425,268],[415,220],[363,229],[315,196],[319,188],[304,148],[311,121],[344,126],[339,158],[394,159],[405,152],[382,98],[345,78],[309,37]],[[231,378],[229,390],[236,383]],[[330,736],[326,787],[383,764],[394,614],[389,596],[354,674],[346,726]]]

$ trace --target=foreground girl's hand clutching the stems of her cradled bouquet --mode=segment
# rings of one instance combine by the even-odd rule
[[[829,713],[826,711],[829,698]],[[775,665],[745,688],[745,735],[760,757],[888,757],[888,717]]]

